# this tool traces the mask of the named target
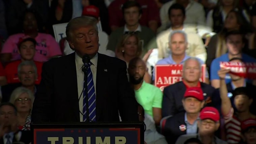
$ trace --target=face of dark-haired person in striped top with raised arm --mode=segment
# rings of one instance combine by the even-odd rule
[[[237,95],[234,98],[234,104],[238,112],[245,112],[249,110],[252,103],[252,99],[249,99],[246,95]]]

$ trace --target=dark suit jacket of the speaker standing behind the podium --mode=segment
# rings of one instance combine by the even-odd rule
[[[138,121],[137,102],[126,75],[126,63],[98,53],[96,121]],[[75,53],[52,59],[42,67],[32,122],[79,122]]]

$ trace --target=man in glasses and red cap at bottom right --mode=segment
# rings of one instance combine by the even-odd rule
[[[220,127],[220,113],[216,108],[203,108],[199,117],[200,120],[197,121],[198,134],[182,135],[176,144],[182,144],[190,138],[198,138],[202,144],[228,144],[214,135]]]

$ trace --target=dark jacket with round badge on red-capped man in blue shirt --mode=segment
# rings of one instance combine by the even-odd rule
[[[180,130],[180,125],[182,124],[186,125],[185,112],[175,114],[166,119],[163,135],[168,144],[174,144],[179,136],[187,134],[187,130]]]

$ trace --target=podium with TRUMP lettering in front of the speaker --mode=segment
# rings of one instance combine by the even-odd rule
[[[144,144],[144,122],[31,123],[32,144]]]

